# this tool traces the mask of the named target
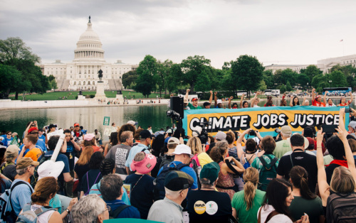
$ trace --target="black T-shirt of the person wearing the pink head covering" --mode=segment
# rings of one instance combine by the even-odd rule
[[[139,181],[137,182],[137,180]],[[141,219],[147,219],[148,212],[153,205],[153,180],[155,180],[155,178],[149,175],[142,176],[135,173],[128,175],[125,179],[125,183],[131,184],[131,205],[136,207],[140,212]]]

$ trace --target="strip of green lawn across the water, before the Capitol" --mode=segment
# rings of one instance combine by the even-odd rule
[[[33,101],[43,101],[43,100],[58,100],[59,97],[67,97],[67,100],[74,100],[75,97],[78,95],[78,91],[75,92],[48,92],[45,94],[31,94],[31,95],[25,95],[26,100],[33,100]],[[82,92],[83,95],[90,95],[90,94],[95,94],[96,92]],[[108,98],[115,98],[116,97],[116,91],[105,91],[105,95]],[[156,96],[159,94],[150,94],[150,98],[156,98]],[[143,95],[139,92],[130,92],[130,91],[122,91],[122,96],[127,97],[130,99],[131,97],[135,96],[135,99],[143,99]],[[164,94],[162,94],[162,97],[164,97]],[[15,96],[10,96],[10,99],[14,100]],[[22,95],[19,95],[19,100],[22,100]]]

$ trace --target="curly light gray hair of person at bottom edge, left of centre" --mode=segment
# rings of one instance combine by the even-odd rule
[[[100,202],[101,201],[101,202]],[[74,223],[97,222],[99,214],[105,212],[106,205],[98,195],[86,195],[73,205],[72,217]]]

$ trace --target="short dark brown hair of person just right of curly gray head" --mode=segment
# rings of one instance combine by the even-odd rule
[[[123,181],[120,175],[113,173],[106,175],[100,180],[100,192],[103,200],[116,200],[117,197],[120,197],[122,185]]]

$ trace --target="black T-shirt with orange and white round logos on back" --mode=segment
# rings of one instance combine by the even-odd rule
[[[232,214],[231,200],[225,192],[189,190],[187,200],[189,222],[228,222]]]

